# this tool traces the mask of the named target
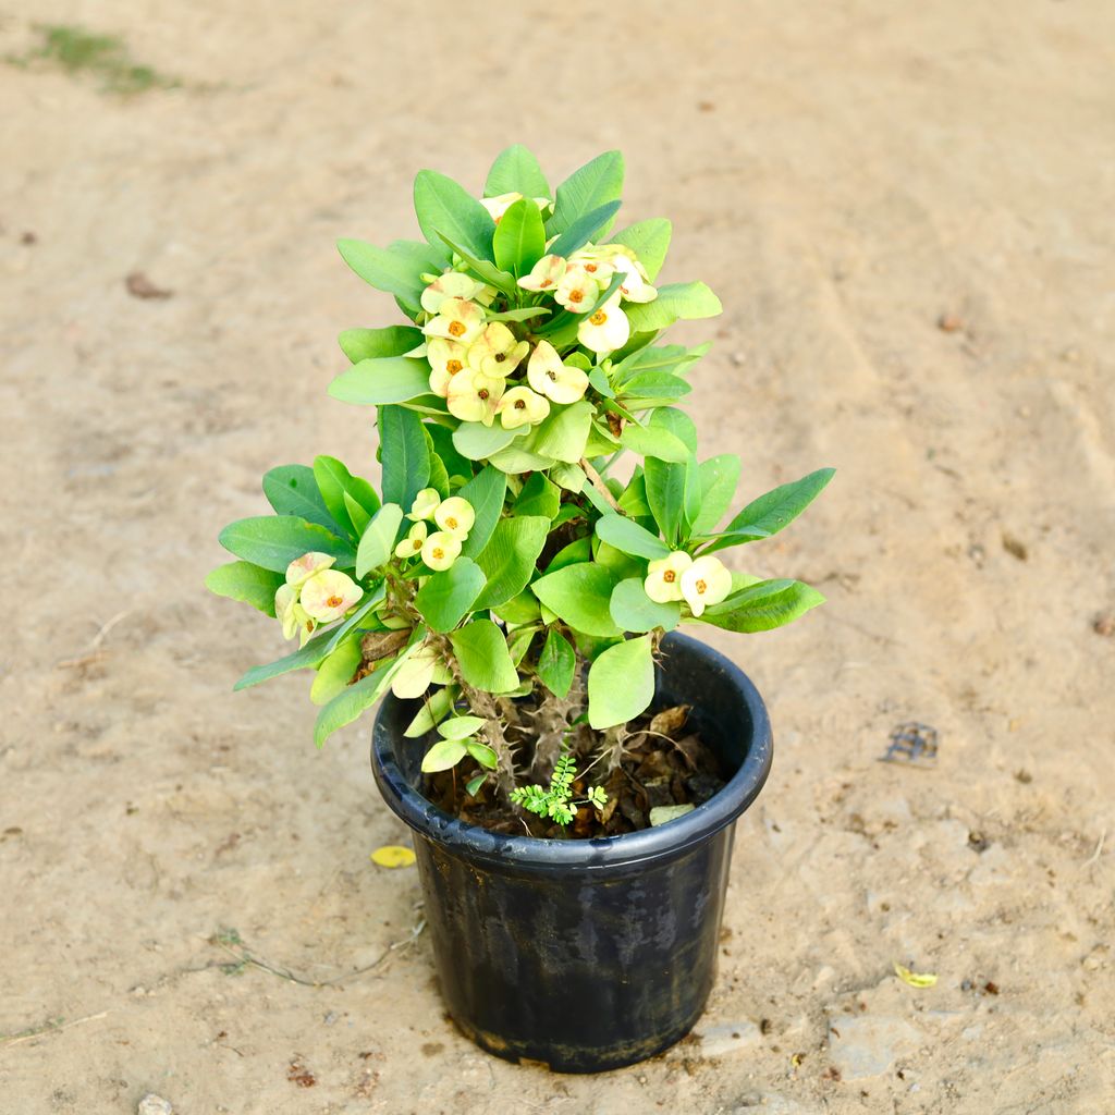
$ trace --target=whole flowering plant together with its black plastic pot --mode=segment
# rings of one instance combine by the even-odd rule
[[[832,475],[720,525],[739,458],[700,460],[680,408],[707,346],[659,342],[720,303],[658,284],[669,222],[611,231],[622,181],[611,152],[552,191],[516,145],[479,200],[418,174],[423,241],[341,241],[406,319],[341,333],[329,388],[376,408],[380,485],[328,456],[273,468],[274,514],[227,526],[239,560],[207,580],[298,639],[236,688],[312,670],[319,746],[385,698],[372,766],[415,834],[449,1011],[566,1072],[650,1056],[700,1015],[772,743],[748,679],[677,628],[821,603],[721,555]]]

